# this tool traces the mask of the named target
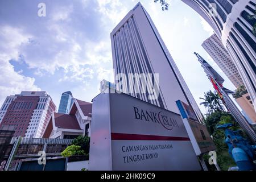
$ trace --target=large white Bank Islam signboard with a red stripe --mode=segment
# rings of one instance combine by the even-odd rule
[[[90,170],[201,169],[180,115],[126,94],[93,99],[91,133]]]

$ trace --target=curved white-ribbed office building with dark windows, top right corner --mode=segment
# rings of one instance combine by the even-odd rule
[[[256,38],[252,31],[256,19],[248,18],[248,15],[255,13],[255,1],[182,1],[197,11],[220,38],[232,57],[256,110]]]

